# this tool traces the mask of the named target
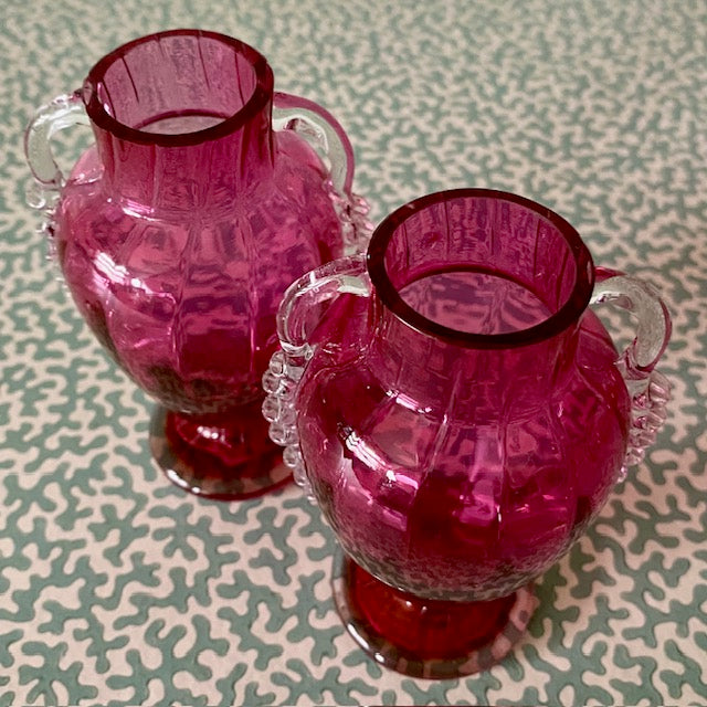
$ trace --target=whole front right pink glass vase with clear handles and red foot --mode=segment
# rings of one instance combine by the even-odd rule
[[[637,321],[621,356],[589,308],[604,302]],[[655,440],[669,329],[567,221],[490,190],[413,201],[367,256],[293,284],[264,414],[346,553],[335,599],[378,662],[453,677],[510,650],[534,578]]]

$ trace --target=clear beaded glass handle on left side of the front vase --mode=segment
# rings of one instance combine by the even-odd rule
[[[314,354],[308,339],[320,321],[321,306],[344,293],[361,297],[370,294],[366,255],[326,263],[287,288],[277,312],[281,348],[273,354],[263,376],[266,393],[263,415],[270,422],[270,436],[285,447],[283,461],[293,469],[295,482],[307,495],[310,495],[310,488],[299,451],[295,398],[299,379]]]

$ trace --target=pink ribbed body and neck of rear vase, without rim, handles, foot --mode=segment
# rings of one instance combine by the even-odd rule
[[[235,114],[254,71],[231,44],[178,35],[127,51],[91,91],[123,125],[155,128],[179,113]],[[298,137],[273,135],[271,101],[196,145],[96,128],[96,149],[62,193],[56,240],[76,304],[170,409],[217,412],[258,397],[282,293],[341,252],[320,162]]]

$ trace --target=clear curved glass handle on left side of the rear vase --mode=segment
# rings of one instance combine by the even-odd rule
[[[80,92],[57,96],[36,110],[24,133],[24,156],[34,180],[28,186],[30,207],[43,209],[50,196],[64,186],[62,175],[52,154],[52,137],[73,125],[89,125]]]

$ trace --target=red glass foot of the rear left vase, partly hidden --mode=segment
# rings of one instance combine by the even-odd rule
[[[158,405],[150,421],[152,456],[180,488],[215,500],[260,496],[292,472],[267,436],[261,401],[229,414],[186,415]]]

